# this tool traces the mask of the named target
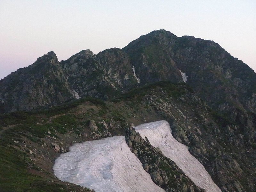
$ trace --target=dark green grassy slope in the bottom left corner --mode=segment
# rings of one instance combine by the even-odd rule
[[[27,167],[32,163],[28,153],[10,147],[3,140],[0,140],[0,191],[74,191],[65,185],[52,183],[44,177],[29,173]]]

